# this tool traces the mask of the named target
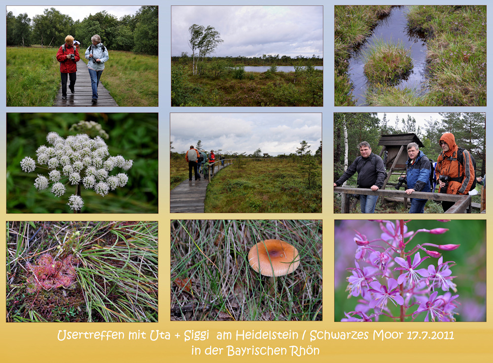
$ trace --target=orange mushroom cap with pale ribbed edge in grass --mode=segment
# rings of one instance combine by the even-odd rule
[[[298,250],[280,239],[258,242],[248,252],[250,266],[264,276],[282,276],[300,265]]]

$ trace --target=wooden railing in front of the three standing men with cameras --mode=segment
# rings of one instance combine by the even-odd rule
[[[402,190],[385,190],[379,189],[375,192],[366,188],[349,188],[349,187],[334,187],[334,193],[342,193],[341,198],[341,213],[349,213],[349,196],[350,194],[358,194],[364,196],[380,196],[380,197],[400,197],[404,198],[404,205],[407,205],[407,198],[431,199],[435,201],[453,201],[455,204],[450,207],[445,213],[471,213],[471,196],[444,194],[444,193],[426,193],[413,192],[412,195],[406,194]]]

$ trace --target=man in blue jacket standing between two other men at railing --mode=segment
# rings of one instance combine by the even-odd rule
[[[416,142],[407,145],[407,155],[409,159],[406,162],[406,194],[411,195],[413,192],[430,192],[430,161]],[[424,204],[428,199],[411,198],[411,208],[409,213],[423,213]]]

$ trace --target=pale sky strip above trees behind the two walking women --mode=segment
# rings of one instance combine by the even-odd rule
[[[135,15],[135,13],[141,8],[141,6],[59,6],[59,5],[45,5],[45,6],[7,6],[7,12],[12,11],[14,16],[19,14],[28,13],[28,17],[33,20],[35,15],[42,15],[44,9],[50,9],[54,7],[62,14],[69,15],[73,21],[84,20],[90,14],[94,15],[100,11],[106,10],[110,15],[114,15],[117,19],[120,19],[124,15]]]

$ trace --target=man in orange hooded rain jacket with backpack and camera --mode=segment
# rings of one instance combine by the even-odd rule
[[[440,185],[440,193],[468,194],[475,178],[474,163],[467,150],[462,151],[453,133],[446,132],[440,137],[442,152],[438,155],[435,167],[435,178]],[[442,201],[445,212],[454,204],[453,201]]]

